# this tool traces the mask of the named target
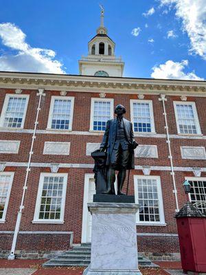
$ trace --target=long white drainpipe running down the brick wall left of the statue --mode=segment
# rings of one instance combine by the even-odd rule
[[[24,186],[23,186],[23,195],[21,198],[21,205],[19,206],[19,212],[17,214],[17,219],[16,219],[16,226],[15,226],[15,230],[14,230],[14,236],[13,236],[13,241],[12,241],[12,248],[10,251],[10,254],[8,256],[8,260],[14,260],[15,259],[15,249],[16,249],[16,240],[17,240],[17,236],[19,234],[19,228],[21,225],[21,217],[22,217],[22,213],[23,213],[23,202],[25,199],[25,192],[27,190],[27,179],[30,173],[30,164],[31,164],[31,159],[32,159],[32,154],[33,154],[33,147],[34,147],[34,140],[36,139],[36,128],[38,125],[38,114],[39,111],[41,110],[40,106],[41,106],[41,98],[42,96],[45,96],[45,94],[43,94],[44,89],[38,89],[38,94],[36,94],[36,96],[39,96],[39,100],[38,100],[38,108],[37,108],[37,113],[36,113],[36,120],[34,122],[34,132],[32,135],[32,144],[31,144],[31,148],[30,148],[30,154],[29,154],[29,161],[27,163],[27,169],[26,169],[26,176],[25,176],[25,181],[24,181]]]

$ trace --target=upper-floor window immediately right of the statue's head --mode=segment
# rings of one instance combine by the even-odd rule
[[[134,132],[155,132],[152,100],[130,100]]]

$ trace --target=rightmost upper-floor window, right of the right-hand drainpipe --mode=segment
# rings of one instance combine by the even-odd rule
[[[182,134],[201,134],[195,102],[174,102],[177,131]]]

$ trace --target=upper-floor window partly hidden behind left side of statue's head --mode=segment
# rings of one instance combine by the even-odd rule
[[[113,118],[112,98],[92,98],[91,99],[91,131],[105,131],[107,120]]]

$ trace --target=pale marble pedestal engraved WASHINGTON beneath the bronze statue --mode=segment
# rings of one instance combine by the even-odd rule
[[[135,203],[88,203],[92,214],[91,264],[84,275],[141,275]]]

